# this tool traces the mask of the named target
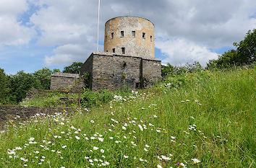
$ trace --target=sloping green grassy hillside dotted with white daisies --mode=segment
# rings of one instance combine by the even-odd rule
[[[103,107],[9,123],[0,167],[255,167],[255,68],[169,77]]]

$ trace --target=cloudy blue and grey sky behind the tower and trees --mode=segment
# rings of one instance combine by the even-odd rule
[[[256,28],[255,0],[101,0],[101,50],[105,22],[129,13],[155,24],[155,57],[172,65],[205,65]],[[98,0],[0,0],[0,68],[84,62],[96,50],[97,22]]]

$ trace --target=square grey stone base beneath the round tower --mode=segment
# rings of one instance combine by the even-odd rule
[[[85,68],[88,66],[88,68]],[[94,52],[81,68],[81,73],[91,74],[90,89],[119,89],[128,86],[140,88],[142,82],[153,84],[161,78],[161,61],[106,52]]]

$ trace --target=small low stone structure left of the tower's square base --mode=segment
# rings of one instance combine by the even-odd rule
[[[79,78],[78,74],[67,74],[57,72],[51,75],[51,89],[63,89],[65,87],[74,86],[76,79]]]

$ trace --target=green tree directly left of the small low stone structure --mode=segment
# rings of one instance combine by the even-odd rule
[[[57,71],[57,70],[54,69],[54,71]],[[33,76],[35,76],[35,79],[38,79],[40,81],[39,89],[50,89],[51,74],[53,74],[53,71],[51,71],[49,68],[43,68],[33,73]]]

